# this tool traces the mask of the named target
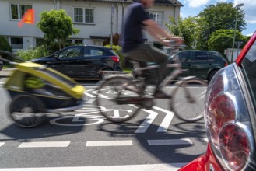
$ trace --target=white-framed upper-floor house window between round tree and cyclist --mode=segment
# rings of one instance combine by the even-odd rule
[[[75,23],[94,23],[94,9],[74,8]]]

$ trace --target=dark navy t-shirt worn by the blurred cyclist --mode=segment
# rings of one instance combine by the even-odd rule
[[[135,2],[128,6],[124,14],[124,31],[122,33],[123,52],[132,51],[143,44],[142,21],[149,19],[142,3]]]

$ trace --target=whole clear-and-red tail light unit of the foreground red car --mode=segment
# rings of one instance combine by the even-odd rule
[[[247,105],[250,99],[233,63],[219,70],[205,96],[205,127],[209,144],[223,170],[249,167],[254,139]]]

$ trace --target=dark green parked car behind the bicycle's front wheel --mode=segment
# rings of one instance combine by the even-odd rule
[[[195,75],[198,78],[207,79],[208,82],[219,69],[227,65],[225,58],[217,51],[179,51],[170,56],[169,62],[171,63],[176,56],[180,59],[182,68],[187,70],[183,76]]]

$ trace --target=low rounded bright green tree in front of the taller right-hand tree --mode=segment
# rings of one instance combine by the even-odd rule
[[[216,30],[213,32],[208,41],[209,50],[219,51],[224,55],[224,50],[232,46],[233,32],[234,30]],[[242,41],[243,45],[246,44],[247,37],[243,36],[238,30],[236,34],[236,41]]]

